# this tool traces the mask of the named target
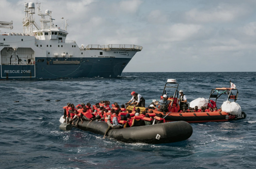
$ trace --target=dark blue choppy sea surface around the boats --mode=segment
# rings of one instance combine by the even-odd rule
[[[168,78],[188,102],[212,89],[236,85],[247,114],[232,122],[194,123],[192,136],[168,144],[122,143],[73,128],[59,129],[66,104],[110,100],[124,104],[130,92],[160,99]],[[1,169],[245,169],[256,165],[256,72],[122,73],[118,78],[0,81]],[[50,101],[45,101],[50,100]],[[55,100],[61,100],[56,102]],[[19,102],[15,102],[19,101]],[[221,103],[217,103],[220,107]]]

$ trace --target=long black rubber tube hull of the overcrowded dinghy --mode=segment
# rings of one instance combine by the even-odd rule
[[[84,121],[83,124],[79,122],[77,128],[104,135],[108,124],[101,121],[92,121],[91,123]],[[184,141],[188,139],[192,133],[193,129],[189,123],[179,121],[123,129],[111,129],[108,132],[108,136],[126,143],[141,142],[163,144]]]

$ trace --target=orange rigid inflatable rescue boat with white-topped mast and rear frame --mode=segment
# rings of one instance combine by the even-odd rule
[[[230,84],[231,83],[230,81]],[[225,111],[222,111],[219,109],[218,111],[208,111],[208,112],[194,112],[189,111],[182,112],[180,111],[180,101],[179,101],[179,92],[178,92],[178,83],[176,82],[176,79],[168,79],[167,83],[164,86],[163,95],[167,95],[166,90],[174,88],[175,92],[173,96],[168,97],[167,104],[167,112],[161,112],[157,110],[153,110],[156,114],[163,114],[163,118],[165,118],[166,122],[172,122],[172,121],[186,121],[188,123],[203,123],[203,122],[226,122],[226,121],[234,121],[239,119],[246,118],[246,114],[243,111],[240,111],[238,113],[227,113]],[[161,98],[162,98],[161,96]],[[214,108],[216,106],[217,100],[221,96],[226,96],[226,100],[229,102],[236,102],[237,96],[238,96],[238,90],[235,87],[218,87],[215,89],[212,89],[209,100],[208,101],[208,107]],[[222,100],[223,101],[223,98]],[[189,103],[187,103],[187,108],[189,108]],[[200,109],[200,107],[198,106]]]

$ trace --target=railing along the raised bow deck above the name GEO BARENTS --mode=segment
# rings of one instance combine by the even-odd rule
[[[108,45],[87,45],[86,48],[81,47],[81,50],[131,50],[131,51],[141,51],[142,46],[138,45],[118,45],[118,44],[108,44]]]

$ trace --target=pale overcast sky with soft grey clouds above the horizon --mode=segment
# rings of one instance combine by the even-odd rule
[[[0,0],[0,20],[14,27],[4,31],[23,32],[24,2]],[[143,46],[124,72],[256,71],[256,0],[38,2],[58,27],[68,19],[67,40],[78,46]]]

